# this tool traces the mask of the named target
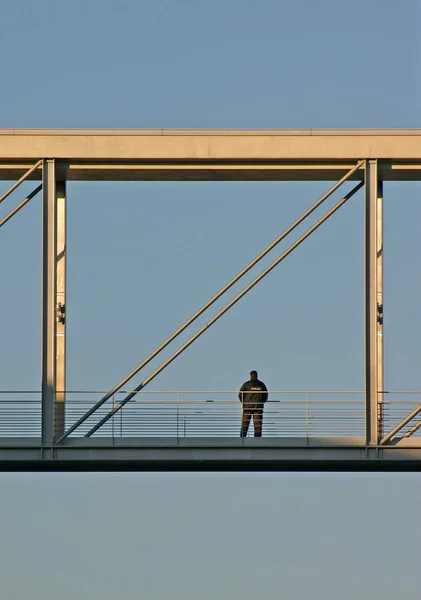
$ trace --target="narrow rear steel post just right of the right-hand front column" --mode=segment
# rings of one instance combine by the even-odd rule
[[[377,419],[379,440],[384,435],[383,404],[383,182],[377,185]]]

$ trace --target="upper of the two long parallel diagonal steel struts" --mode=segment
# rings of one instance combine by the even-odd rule
[[[129,373],[118,385],[108,392],[92,408],[90,408],[76,423],[74,423],[61,437],[56,440],[59,444],[75,431],[86,419],[88,419],[98,408],[109,400],[123,385],[125,385],[134,375],[143,369],[153,358],[155,358],[164,348],[168,346],[176,337],[178,337],[189,325],[191,325],[200,315],[202,315],[212,304],[214,304],[225,292],[227,292],[243,275],[254,267],[262,258],[264,258],[275,246],[277,246],[287,235],[289,235],[304,219],[313,213],[329,196],[331,196],[345,181],[351,177],[358,169],[364,165],[365,161],[359,161],[348,173],[346,173],[337,183],[335,183],[321,198],[319,198],[309,209],[307,209],[290,227],[288,227],[279,237],[277,237],[269,246],[267,246],[258,256],[256,256],[242,271],[240,271],[229,283],[227,283],[215,296],[202,306],[190,319],[188,319],[179,329],[177,329],[169,338],[167,338],[156,350],[145,358],[131,373]],[[359,189],[359,188],[358,188]]]

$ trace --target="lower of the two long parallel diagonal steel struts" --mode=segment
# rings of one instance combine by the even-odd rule
[[[180,346],[180,348],[174,352],[172,356],[170,356],[165,362],[162,363],[158,369],[156,369],[149,377],[147,377],[137,388],[130,394],[128,394],[121,402],[119,402],[109,413],[107,413],[88,433],[85,437],[90,437],[93,433],[98,431],[104,423],[106,423],[113,415],[115,415],[127,402],[129,402],[134,396],[136,396],[137,392],[140,392],[148,383],[150,383],[161,371],[163,371],[170,363],[173,362],[184,350],[186,350],[198,337],[202,335],[211,325],[213,325],[222,315],[224,315],[234,304],[236,304],[240,298],[245,296],[247,292],[249,292],[255,285],[259,283],[268,273],[270,273],[280,262],[284,260],[295,248],[297,248],[306,238],[309,237],[316,229],[320,227],[329,217],[331,217],[347,200],[349,200],[358,190],[363,187],[364,183],[359,183],[355,186],[346,196],[339,200],[323,217],[321,217],[310,229],[308,229],[301,237],[298,238],[285,252],[283,252],[276,260],[274,260],[260,275],[258,275],[249,285],[241,290],[224,308],[222,308],[212,319],[203,325],[185,344]]]

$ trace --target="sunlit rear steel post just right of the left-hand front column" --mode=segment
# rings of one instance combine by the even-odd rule
[[[66,182],[56,183],[56,397],[54,437],[63,435],[66,409]]]

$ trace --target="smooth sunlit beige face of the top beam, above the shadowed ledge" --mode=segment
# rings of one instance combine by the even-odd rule
[[[421,158],[421,130],[0,130],[3,159]]]

